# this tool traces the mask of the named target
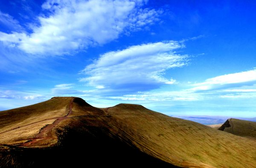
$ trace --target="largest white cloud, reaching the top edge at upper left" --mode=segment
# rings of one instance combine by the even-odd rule
[[[102,45],[158,20],[160,10],[142,8],[143,0],[47,0],[32,33],[0,32],[0,41],[31,54],[70,54]]]

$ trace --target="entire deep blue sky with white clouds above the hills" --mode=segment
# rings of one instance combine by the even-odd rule
[[[1,0],[0,110],[76,96],[256,117],[256,2]]]

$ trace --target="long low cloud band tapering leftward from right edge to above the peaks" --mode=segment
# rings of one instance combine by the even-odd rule
[[[152,90],[133,95],[111,96],[110,99],[141,102],[219,101],[256,98],[256,70],[248,70],[209,78],[204,82],[187,85],[190,89],[178,91]]]

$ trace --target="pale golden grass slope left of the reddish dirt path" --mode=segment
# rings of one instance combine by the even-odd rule
[[[55,97],[31,106],[0,112],[0,144],[20,144],[68,113],[70,97]]]

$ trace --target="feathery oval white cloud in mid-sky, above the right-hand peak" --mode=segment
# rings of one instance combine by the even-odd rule
[[[100,85],[114,90],[128,89],[131,92],[174,84],[175,79],[164,78],[163,74],[170,68],[186,65],[188,56],[174,52],[182,47],[179,42],[166,41],[111,51],[82,70],[88,77],[80,81],[94,87]]]

